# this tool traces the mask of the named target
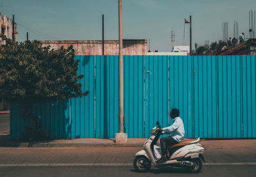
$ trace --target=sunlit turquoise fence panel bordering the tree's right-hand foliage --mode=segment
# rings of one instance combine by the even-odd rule
[[[79,70],[77,73],[83,74],[81,80],[82,90],[89,90],[86,97],[70,99],[70,135],[68,138],[94,138],[95,137],[95,57],[77,55]],[[98,64],[99,62],[96,62]],[[99,69],[98,65],[96,70]],[[97,75],[96,75],[97,76]],[[96,100],[97,101],[97,100]],[[97,104],[97,103],[96,103]],[[99,127],[97,127],[99,128]],[[101,127],[100,127],[101,128]]]

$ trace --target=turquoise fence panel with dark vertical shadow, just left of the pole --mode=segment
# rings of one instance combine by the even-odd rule
[[[118,56],[96,56],[95,138],[115,137],[118,131]]]

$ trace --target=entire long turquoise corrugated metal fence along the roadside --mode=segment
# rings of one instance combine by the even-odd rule
[[[76,56],[86,97],[35,103],[47,135],[115,138],[118,132],[118,56]],[[129,138],[147,138],[159,120],[172,124],[179,108],[186,138],[256,138],[255,55],[124,56],[124,113]],[[11,104],[10,136],[29,120]]]

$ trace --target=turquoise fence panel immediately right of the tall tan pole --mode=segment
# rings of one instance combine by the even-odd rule
[[[143,138],[144,56],[124,57],[124,114],[127,136]]]

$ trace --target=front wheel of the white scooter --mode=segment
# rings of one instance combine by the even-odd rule
[[[136,171],[145,173],[150,169],[151,162],[147,157],[141,155],[134,159],[133,166]]]

